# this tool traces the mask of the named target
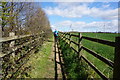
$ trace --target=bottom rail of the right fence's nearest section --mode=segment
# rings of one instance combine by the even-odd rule
[[[94,71],[103,79],[103,80],[109,80],[100,70],[97,69],[88,59],[86,59],[84,56],[81,56],[83,60],[85,60],[88,65],[94,69]]]

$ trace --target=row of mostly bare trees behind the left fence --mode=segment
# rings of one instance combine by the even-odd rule
[[[51,32],[45,12],[34,2],[1,2],[0,17],[2,36]]]

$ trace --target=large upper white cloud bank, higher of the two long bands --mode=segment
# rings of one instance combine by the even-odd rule
[[[109,5],[104,5],[104,7],[109,7]],[[48,15],[58,15],[69,18],[91,16],[105,20],[114,20],[118,17],[118,9],[90,8],[88,5],[80,5],[78,3],[58,3],[58,6],[44,8],[44,10]]]

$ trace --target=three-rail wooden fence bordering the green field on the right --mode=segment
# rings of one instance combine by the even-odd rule
[[[72,46],[71,49],[73,51],[75,51],[76,53],[78,53],[78,57],[80,59],[83,59],[86,63],[88,63],[88,65],[103,79],[103,80],[109,80],[92,62],[90,62],[84,55],[81,54],[81,50],[85,50],[88,53],[90,53],[91,55],[93,55],[94,57],[96,57],[97,59],[99,59],[100,61],[104,62],[105,64],[107,64],[108,66],[113,68],[113,79],[114,80],[119,80],[120,79],[120,37],[116,37],[115,42],[111,42],[111,41],[106,41],[106,40],[102,40],[102,39],[96,39],[96,38],[91,38],[91,37],[85,37],[82,36],[81,33],[77,34],[72,34],[72,33],[63,33],[60,32],[60,39],[63,39],[66,43],[68,43],[69,45],[71,43],[75,44],[78,46],[78,50],[76,50],[75,48],[73,48]],[[78,42],[75,42],[73,40],[71,40],[71,37],[77,37],[79,40]],[[81,45],[81,41],[82,39],[86,39],[89,41],[93,41],[96,43],[100,43],[100,44],[104,44],[104,45],[108,45],[108,46],[112,46],[115,47],[115,57],[114,57],[114,62],[99,55],[97,52],[88,49],[85,46]],[[66,41],[68,40],[68,41]]]

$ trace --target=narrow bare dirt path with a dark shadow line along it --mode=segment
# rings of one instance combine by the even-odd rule
[[[56,56],[56,57],[55,57]],[[52,67],[48,67],[48,72],[45,73],[45,78],[55,78],[57,76],[57,79],[61,78],[62,79],[62,73],[61,73],[61,66],[59,64],[60,59],[59,59],[59,54],[58,54],[58,46],[57,44],[54,43],[52,44],[52,51],[51,55],[49,56],[49,64]],[[49,65],[48,65],[49,66]],[[53,75],[54,74],[54,75]]]

